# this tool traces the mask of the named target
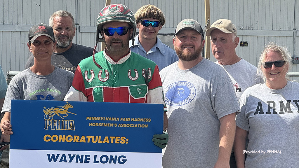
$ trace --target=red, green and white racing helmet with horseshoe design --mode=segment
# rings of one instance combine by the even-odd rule
[[[100,31],[105,23],[108,22],[126,22],[133,29],[132,36],[132,45],[134,46],[134,37],[136,32],[136,21],[135,16],[132,10],[126,7],[123,4],[110,4],[104,7],[97,17],[97,41],[104,42],[103,37],[100,38]]]

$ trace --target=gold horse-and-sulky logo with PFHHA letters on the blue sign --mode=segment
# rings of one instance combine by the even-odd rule
[[[66,102],[64,106],[57,106],[57,107],[50,107],[46,108],[44,107],[43,111],[45,113],[44,119],[45,119],[45,129],[51,129],[51,130],[75,130],[75,124],[74,120],[65,120],[63,117],[68,117],[69,114],[74,114],[72,112],[69,112],[68,109],[73,108],[73,106]],[[60,114],[64,114],[62,117]],[[54,119],[54,116],[57,115],[62,120],[56,120]],[[77,114],[74,114],[77,115]]]

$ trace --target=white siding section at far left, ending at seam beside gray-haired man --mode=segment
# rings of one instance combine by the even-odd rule
[[[49,16],[57,10],[75,13],[75,3],[72,0],[1,0],[0,51],[4,73],[24,70],[30,54],[27,42],[32,25],[49,24]]]

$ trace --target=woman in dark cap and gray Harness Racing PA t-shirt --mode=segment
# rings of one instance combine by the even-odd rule
[[[1,141],[9,141],[13,134],[10,124],[10,100],[63,100],[71,87],[74,73],[51,65],[56,45],[53,29],[39,23],[30,28],[28,49],[34,64],[17,74],[8,85],[1,113]]]

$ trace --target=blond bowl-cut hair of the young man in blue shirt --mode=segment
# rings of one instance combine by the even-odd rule
[[[161,9],[156,7],[155,5],[143,5],[141,8],[139,8],[135,13],[135,19],[136,23],[138,23],[140,20],[145,18],[152,18],[157,19],[160,21],[161,26],[165,24],[165,16]]]

